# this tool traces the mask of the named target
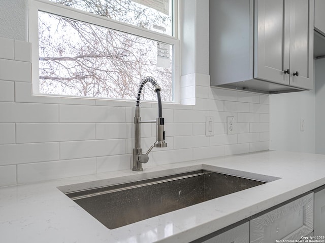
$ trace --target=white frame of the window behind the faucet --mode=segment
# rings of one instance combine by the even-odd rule
[[[85,99],[107,99],[107,100],[124,100],[114,98],[99,98],[99,97],[83,97],[70,95],[50,95],[40,94],[39,88],[39,30],[38,30],[38,12],[47,12],[62,17],[70,18],[76,21],[82,21],[89,24],[102,26],[104,28],[113,29],[116,31],[126,32],[140,37],[152,39],[153,41],[163,42],[173,45],[173,101],[168,103],[179,103],[179,84],[180,84],[180,48],[179,48],[179,14],[178,0],[170,0],[174,2],[172,7],[173,15],[173,35],[167,35],[155,32],[153,30],[144,29],[131,24],[123,23],[117,20],[108,19],[106,17],[88,13],[79,9],[53,3],[47,0],[28,0],[28,39],[31,42],[31,63],[32,63],[32,95],[36,96],[51,96],[64,98],[85,98]],[[37,74],[37,75],[36,75]],[[144,74],[146,75],[146,74]],[[139,80],[140,84],[141,80]],[[159,83],[159,80],[157,80]],[[164,92],[164,87],[163,92]],[[136,96],[136,94],[135,94]],[[151,102],[151,101],[150,101]]]

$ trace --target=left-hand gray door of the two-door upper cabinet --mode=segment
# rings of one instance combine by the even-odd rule
[[[289,22],[284,19],[284,0],[255,1],[254,78],[289,85]]]

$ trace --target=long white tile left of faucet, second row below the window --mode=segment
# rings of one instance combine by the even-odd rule
[[[125,107],[60,105],[61,123],[123,123]]]

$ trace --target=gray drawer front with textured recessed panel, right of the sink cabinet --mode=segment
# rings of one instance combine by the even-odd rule
[[[250,243],[299,240],[314,229],[313,192],[250,220]]]

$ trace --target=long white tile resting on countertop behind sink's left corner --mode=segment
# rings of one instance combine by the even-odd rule
[[[96,173],[96,159],[82,158],[17,165],[18,184]]]

